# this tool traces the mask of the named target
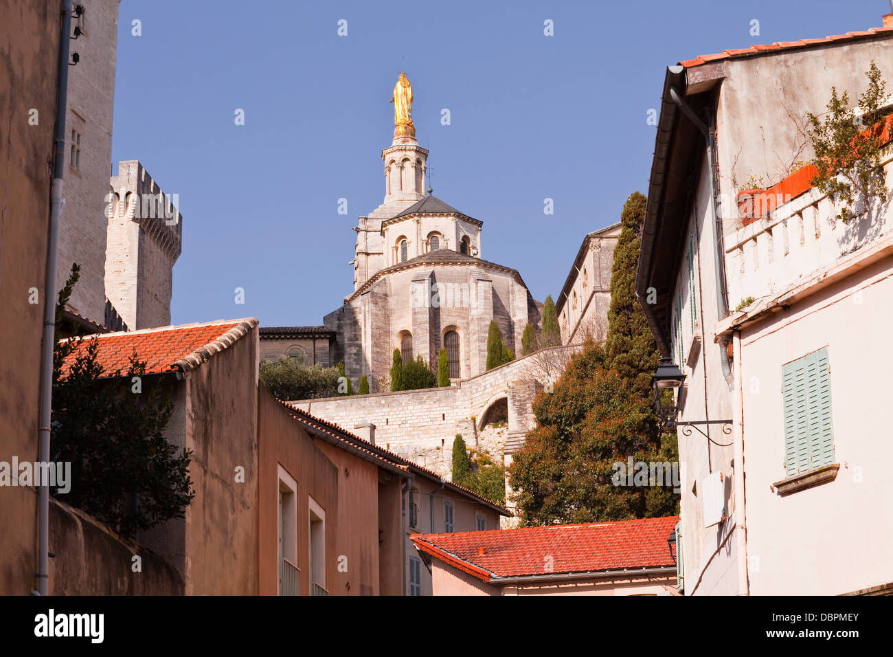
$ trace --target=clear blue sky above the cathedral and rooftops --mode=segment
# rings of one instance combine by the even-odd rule
[[[123,0],[113,161],[140,160],[179,195],[173,324],[321,324],[353,291],[350,228],[384,196],[402,70],[435,196],[483,221],[481,256],[543,300],[583,236],[647,192],[647,113],[667,65],[880,27],[889,11],[887,0]]]

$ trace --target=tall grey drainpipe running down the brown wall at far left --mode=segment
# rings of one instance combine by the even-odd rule
[[[56,100],[55,161],[50,204],[49,243],[44,281],[44,344],[40,364],[40,417],[38,421],[38,460],[50,460],[50,423],[53,418],[53,347],[55,342],[56,248],[59,242],[59,215],[62,215],[63,174],[65,171],[65,118],[68,105],[68,57],[71,37],[71,4],[64,0],[62,30],[59,35],[59,93]],[[38,492],[38,591],[46,595],[49,585],[50,488],[46,477]]]

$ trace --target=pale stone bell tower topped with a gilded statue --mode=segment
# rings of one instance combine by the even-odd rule
[[[399,74],[391,103],[394,104],[394,139],[381,151],[385,164],[385,198],[369,215],[361,216],[354,228],[356,255],[351,264],[355,290],[385,266],[381,222],[425,198],[428,151],[415,140],[413,88],[405,73]]]

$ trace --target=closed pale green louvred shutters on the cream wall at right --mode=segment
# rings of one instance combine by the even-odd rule
[[[781,367],[786,476],[834,462],[828,348]]]

